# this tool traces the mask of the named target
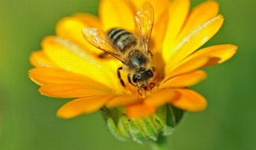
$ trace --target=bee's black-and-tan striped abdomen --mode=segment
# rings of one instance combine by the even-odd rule
[[[137,38],[135,35],[132,35],[131,32],[126,31],[121,28],[113,28],[108,31],[107,35],[111,38],[122,52],[127,49],[129,46],[135,45]]]

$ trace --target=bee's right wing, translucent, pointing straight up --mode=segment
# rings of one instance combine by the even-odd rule
[[[154,24],[154,9],[149,2],[145,2],[135,15],[135,27],[139,31],[143,49],[148,53],[150,35]]]

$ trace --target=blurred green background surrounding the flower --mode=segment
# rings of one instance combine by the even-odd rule
[[[202,0],[191,0],[192,6]],[[206,68],[208,79],[193,89],[209,103],[204,112],[187,112],[173,134],[173,149],[256,149],[256,1],[218,0],[224,25],[205,46],[232,43],[238,53]],[[117,141],[99,112],[58,119],[69,100],[43,97],[28,79],[30,53],[40,49],[55,24],[76,12],[97,14],[98,0],[0,1],[0,149],[149,149]]]

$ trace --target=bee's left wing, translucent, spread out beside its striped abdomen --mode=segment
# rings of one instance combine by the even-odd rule
[[[123,53],[121,53],[121,50],[113,43],[112,39],[109,38],[105,31],[98,28],[85,28],[82,34],[83,38],[85,38],[87,42],[90,42],[91,45],[102,49],[124,63]]]

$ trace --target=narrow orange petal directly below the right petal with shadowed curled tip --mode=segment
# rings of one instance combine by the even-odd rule
[[[165,79],[162,83],[166,82],[168,79],[173,78],[176,75],[185,74],[187,72],[195,71],[198,68],[202,68],[209,60],[208,57],[200,57],[193,60],[184,60],[182,61],[177,68],[170,70],[169,73],[166,73]]]

